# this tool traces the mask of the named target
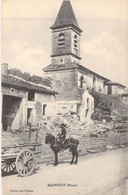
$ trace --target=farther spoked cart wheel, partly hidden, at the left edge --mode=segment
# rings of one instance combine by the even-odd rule
[[[15,159],[3,160],[1,162],[1,169],[3,174],[11,174],[16,169]]]

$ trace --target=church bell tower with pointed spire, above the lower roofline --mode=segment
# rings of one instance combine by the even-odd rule
[[[57,18],[51,26],[51,64],[61,65],[80,62],[80,29],[70,0],[63,0]]]

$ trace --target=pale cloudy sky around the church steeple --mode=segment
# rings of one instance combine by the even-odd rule
[[[81,65],[128,87],[128,0],[70,0],[80,28]],[[43,76],[63,0],[2,0],[2,63]]]

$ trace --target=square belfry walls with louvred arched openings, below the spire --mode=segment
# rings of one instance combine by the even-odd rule
[[[71,28],[53,31],[51,63],[79,63],[79,59],[73,57],[71,53],[80,56],[80,35]]]

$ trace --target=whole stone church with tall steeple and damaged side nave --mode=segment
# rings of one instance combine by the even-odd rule
[[[90,118],[94,111],[94,99],[88,91],[106,95],[120,94],[125,86],[80,64],[80,29],[69,0],[64,0],[52,30],[51,64],[43,69],[52,78],[57,95],[57,113],[69,111],[79,114],[81,120]]]

